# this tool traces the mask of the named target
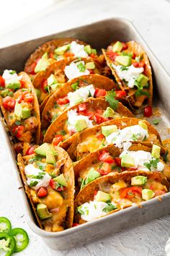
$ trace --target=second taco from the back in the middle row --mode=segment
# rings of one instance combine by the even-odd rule
[[[53,61],[44,71],[39,72],[32,82],[37,89],[39,103],[45,106],[50,93],[60,88],[68,80],[84,74],[102,74],[102,67],[91,58],[70,57]]]

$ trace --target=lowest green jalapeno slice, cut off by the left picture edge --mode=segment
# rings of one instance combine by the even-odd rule
[[[0,233],[0,255],[5,252],[4,256],[10,256],[14,252],[15,239],[13,236],[4,232]]]

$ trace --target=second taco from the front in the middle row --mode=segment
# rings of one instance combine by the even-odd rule
[[[147,145],[125,142],[123,149],[114,145],[101,148],[74,163],[76,191],[94,179],[115,172],[161,171],[166,176],[170,174],[170,166],[161,158],[164,153],[164,148],[151,142]]]

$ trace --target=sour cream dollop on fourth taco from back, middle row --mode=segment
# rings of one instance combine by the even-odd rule
[[[91,128],[93,127],[92,121],[89,120],[88,116],[82,116],[77,114],[76,109],[71,109],[68,111],[68,131],[70,132],[78,132],[75,127],[75,123],[78,120],[85,120],[86,121],[86,126]]]

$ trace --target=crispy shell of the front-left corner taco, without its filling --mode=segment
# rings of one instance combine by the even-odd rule
[[[61,165],[61,173],[68,178],[67,180],[67,189],[63,190],[62,195],[64,198],[64,204],[66,205],[66,214],[62,215],[59,211],[59,216],[53,216],[52,218],[48,218],[45,220],[40,220],[39,216],[37,215],[36,206],[37,203],[35,202],[38,198],[36,196],[36,192],[34,189],[30,188],[27,185],[27,179],[24,174],[24,167],[29,163],[30,158],[34,157],[34,155],[27,155],[22,156],[21,154],[18,155],[17,161],[18,166],[20,170],[20,174],[22,176],[22,182],[24,184],[24,189],[27,194],[27,197],[30,200],[30,203],[32,205],[32,209],[35,213],[35,217],[37,219],[37,223],[40,226],[41,229],[45,229],[46,231],[61,231],[65,227],[67,229],[71,228],[73,224],[73,194],[74,194],[74,174],[73,174],[73,166],[71,159],[69,158],[68,154],[66,153],[63,148],[55,147],[56,152],[58,153],[56,161],[59,165]],[[48,186],[50,187],[50,186]],[[48,188],[49,189],[49,188]],[[51,188],[50,188],[51,189]],[[47,195],[48,197],[48,195]],[[45,198],[47,198],[45,197]],[[49,198],[50,201],[50,198]],[[61,219],[60,219],[61,217]]]

